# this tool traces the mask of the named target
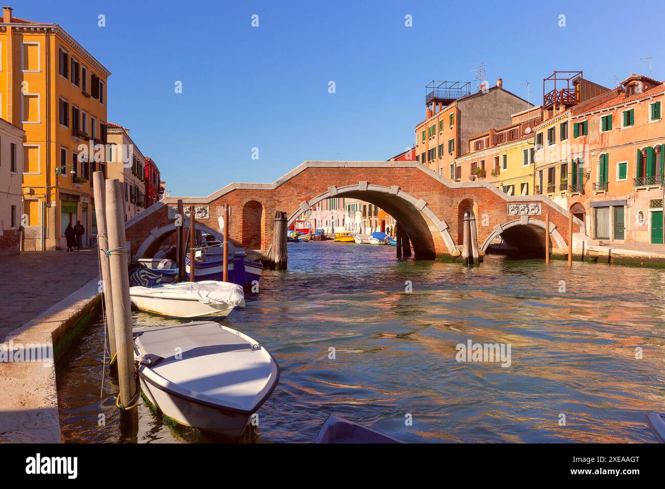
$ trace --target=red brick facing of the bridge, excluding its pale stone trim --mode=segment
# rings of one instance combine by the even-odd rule
[[[273,237],[273,216],[275,211],[285,211],[287,215],[298,211],[299,205],[305,200],[323,194],[330,186],[338,188],[346,185],[357,185],[359,181],[366,181],[370,185],[390,187],[398,185],[400,190],[410,194],[416,199],[427,202],[428,208],[445,221],[450,236],[455,243],[459,243],[458,230],[460,228],[461,208],[473,208],[477,219],[478,242],[482,244],[493,232],[497,224],[505,224],[519,219],[519,216],[508,216],[507,200],[483,186],[465,188],[448,188],[430,174],[415,167],[398,168],[355,168],[355,167],[309,167],[305,168],[293,178],[281,184],[275,190],[269,189],[236,189],[223,196],[205,203],[209,206],[209,218],[199,220],[206,226],[217,230],[217,208],[223,204],[231,206],[229,224],[229,239],[233,244],[255,249],[259,245],[257,220],[261,221],[261,249],[267,249]],[[338,197],[360,198],[376,204],[394,216],[404,226],[413,242],[414,249],[418,247],[418,240],[424,240],[427,233],[428,244],[422,245],[422,250],[434,247],[436,253],[448,253],[438,232],[432,232],[431,224],[422,218],[420,212],[415,210],[408,202],[392,194],[371,194],[370,192],[356,192],[354,194],[339,194]],[[255,201],[255,202],[253,202]],[[539,202],[534,197],[534,202]],[[249,204],[247,206],[246,204]],[[184,202],[189,206],[190,202]],[[259,211],[259,204],[262,209]],[[203,205],[194,203],[194,205]],[[262,216],[259,217],[260,212]],[[532,216],[544,220],[545,212],[549,212],[550,220],[557,226],[557,231],[564,240],[568,240],[568,218],[559,210],[543,203],[543,216]],[[153,228],[160,228],[171,224],[168,219],[166,206],[146,216],[127,230],[127,239],[132,242],[132,253],[136,253],[143,240]],[[574,226],[574,231],[579,228]],[[427,248],[427,249],[426,249]]]

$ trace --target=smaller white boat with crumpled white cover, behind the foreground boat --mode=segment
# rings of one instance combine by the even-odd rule
[[[142,311],[172,317],[226,317],[237,305],[245,307],[240,285],[205,280],[130,287],[130,299]]]

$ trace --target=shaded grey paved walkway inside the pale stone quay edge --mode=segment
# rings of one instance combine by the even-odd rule
[[[0,342],[99,275],[96,249],[0,256]]]

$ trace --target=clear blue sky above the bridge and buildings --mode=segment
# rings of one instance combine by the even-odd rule
[[[529,81],[536,104],[555,69],[611,88],[649,75],[640,58],[652,57],[651,76],[665,79],[656,1],[8,3],[15,17],[59,23],[112,72],[108,120],[130,128],[172,195],[273,182],[305,160],[386,160],[411,145],[426,84],[475,87],[480,62],[490,84],[501,77],[523,98]]]

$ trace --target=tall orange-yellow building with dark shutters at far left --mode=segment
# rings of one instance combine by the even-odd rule
[[[11,7],[3,7],[0,53],[0,117],[26,133],[26,234],[37,249],[61,249],[67,224],[80,220],[84,245],[91,245],[90,180],[104,170],[110,72],[60,25],[13,17]]]

